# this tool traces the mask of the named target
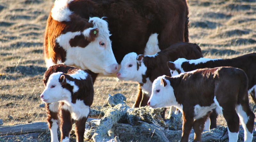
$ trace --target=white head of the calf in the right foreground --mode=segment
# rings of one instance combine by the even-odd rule
[[[156,78],[152,84],[152,93],[148,100],[148,106],[152,108],[170,107],[176,102],[173,88],[165,75]]]

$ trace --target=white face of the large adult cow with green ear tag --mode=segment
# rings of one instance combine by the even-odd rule
[[[84,70],[89,69],[94,73],[110,75],[117,71],[118,64],[109,39],[108,23],[97,17],[90,18],[89,22],[93,23],[93,28],[88,28],[82,32],[61,34],[56,39],[59,45],[67,52],[65,64],[75,65]],[[97,37],[86,47],[70,45],[70,41],[79,35],[84,35],[85,38],[91,39],[93,32]]]

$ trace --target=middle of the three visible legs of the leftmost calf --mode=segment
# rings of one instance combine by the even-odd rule
[[[72,119],[71,119],[71,114],[68,109],[66,109],[68,106],[65,105],[63,102],[60,104],[60,134],[61,142],[69,142],[69,135],[70,131],[72,129]],[[63,106],[65,107],[63,108]]]

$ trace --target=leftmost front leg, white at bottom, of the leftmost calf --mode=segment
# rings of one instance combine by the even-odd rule
[[[58,139],[58,125],[60,123],[59,121],[59,116],[58,116],[58,106],[59,103],[46,103],[45,108],[47,112],[47,122],[48,122],[48,127],[51,132],[51,142],[59,142]]]

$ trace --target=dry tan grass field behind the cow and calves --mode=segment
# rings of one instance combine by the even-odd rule
[[[53,3],[1,0],[0,119],[4,125],[46,121],[45,109],[39,104],[46,71],[44,29]],[[188,5],[189,40],[201,47],[204,57],[233,58],[256,51],[256,0],[188,0]],[[94,90],[92,108],[116,93],[124,94],[132,107],[137,83],[99,77]],[[222,116],[217,124],[226,125]]]

